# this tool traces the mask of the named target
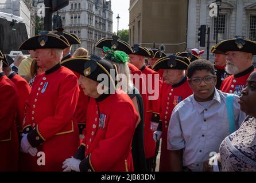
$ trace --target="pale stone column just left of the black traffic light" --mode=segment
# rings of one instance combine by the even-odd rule
[[[188,35],[187,48],[196,47],[196,1],[188,1]]]

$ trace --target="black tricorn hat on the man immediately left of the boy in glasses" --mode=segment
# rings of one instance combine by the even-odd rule
[[[153,70],[159,69],[178,69],[187,70],[190,61],[187,57],[180,57],[176,55],[169,55],[168,57],[160,58],[152,66]]]

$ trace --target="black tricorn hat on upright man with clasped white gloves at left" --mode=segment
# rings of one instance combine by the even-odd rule
[[[39,35],[26,39],[20,50],[36,50],[36,49],[65,49],[70,46],[68,40],[63,35],[53,34],[49,31],[42,31]]]

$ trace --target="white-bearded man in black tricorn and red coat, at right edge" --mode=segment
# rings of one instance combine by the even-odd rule
[[[250,39],[235,37],[219,42],[212,51],[215,50],[226,53],[226,71],[232,74],[224,79],[220,90],[240,96],[249,75],[254,71],[253,55],[256,54],[256,43]]]

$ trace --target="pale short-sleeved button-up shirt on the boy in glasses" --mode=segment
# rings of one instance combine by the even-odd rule
[[[201,171],[203,162],[219,152],[221,142],[229,134],[226,109],[227,93],[215,90],[207,108],[200,105],[193,95],[181,101],[172,112],[168,127],[167,148],[183,150],[183,166]],[[238,96],[234,97],[234,115],[238,128],[246,114],[240,110]]]

